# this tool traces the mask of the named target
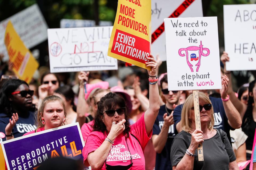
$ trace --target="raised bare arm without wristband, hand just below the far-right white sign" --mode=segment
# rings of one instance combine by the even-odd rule
[[[237,96],[235,96],[235,92],[233,91],[233,86],[232,86],[232,79],[231,79],[231,72],[226,70],[226,62],[229,61],[229,56],[228,54],[224,51],[223,54],[221,55],[221,62],[224,65],[224,74],[227,76],[229,79],[230,83],[228,85],[228,95],[230,101],[233,103],[234,107],[237,109],[239,112],[241,119],[243,120],[243,116],[245,115],[247,106],[243,104]]]

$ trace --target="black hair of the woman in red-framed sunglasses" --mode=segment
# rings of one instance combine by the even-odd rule
[[[1,90],[0,90],[0,113],[6,113],[7,115],[11,115],[11,103],[8,97],[14,92],[21,84],[26,84],[28,87],[29,85],[20,79],[9,79],[7,80]],[[35,111],[35,105],[32,105],[31,111]]]

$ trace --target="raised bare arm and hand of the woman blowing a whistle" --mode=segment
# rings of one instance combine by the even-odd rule
[[[150,79],[155,79],[154,76],[156,76],[157,62],[155,61],[152,55],[150,55],[148,60],[149,62],[146,62],[146,66],[151,67],[151,70],[148,70]],[[149,108],[147,109],[144,115],[145,126],[148,135],[150,134],[153,128],[159,108],[160,104],[158,86],[157,84],[149,84]]]

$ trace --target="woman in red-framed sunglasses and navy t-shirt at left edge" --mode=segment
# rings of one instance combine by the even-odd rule
[[[1,89],[0,123],[6,125],[7,139],[20,137],[36,129],[34,125],[35,105],[32,103],[34,91],[19,79],[10,79]],[[15,122],[18,122],[15,124]]]

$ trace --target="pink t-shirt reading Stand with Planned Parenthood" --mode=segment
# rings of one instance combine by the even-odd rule
[[[115,139],[114,144],[111,146],[109,155],[107,156],[108,165],[129,165],[130,153],[133,160],[133,166],[130,169],[144,170],[145,169],[145,158],[144,149],[152,136],[152,130],[150,135],[147,135],[144,114],[141,118],[130,126],[129,138],[125,139],[125,135],[121,133]],[[133,134],[137,139],[135,139],[131,134]],[[89,134],[85,147],[83,148],[83,160],[86,166],[89,166],[87,162],[87,156],[89,153],[95,151],[106,139],[107,134],[99,131],[93,131]],[[127,141],[127,144],[126,144]],[[140,145],[141,144],[141,145]],[[127,148],[129,147],[129,150]],[[105,163],[100,169],[106,169]]]

